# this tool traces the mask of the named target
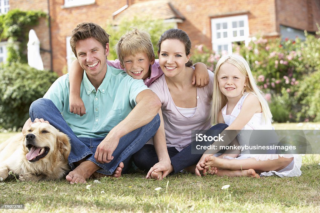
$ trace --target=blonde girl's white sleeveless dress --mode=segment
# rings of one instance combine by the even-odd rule
[[[230,124],[236,119],[236,117],[239,115],[240,110],[242,108],[242,105],[244,103],[245,98],[249,95],[250,93],[245,93],[238,103],[236,104],[236,107],[232,110],[230,115],[226,114],[227,111],[227,105],[228,103],[222,108],[222,116],[226,124],[230,126]],[[253,117],[250,119],[250,121],[244,126],[243,130],[256,130],[256,129],[266,129],[266,130],[272,130],[274,129],[271,126],[271,120],[266,124],[263,121],[262,118],[262,112],[261,113],[255,113]],[[249,135],[250,137],[250,135]],[[237,139],[239,141],[239,144],[242,145],[243,140],[248,137],[247,135],[241,135],[241,133],[237,136]],[[278,175],[280,177],[294,177],[294,176],[300,176],[301,175],[301,164],[302,164],[302,158],[298,154],[240,154],[236,158],[232,158],[229,156],[224,156],[224,158],[227,159],[246,159],[249,157],[253,157],[257,160],[274,160],[278,159],[278,157],[286,157],[286,158],[291,158],[293,157],[292,162],[286,166],[284,169],[279,170],[279,171],[268,171],[268,172],[262,172],[260,176],[271,176],[271,175]]]

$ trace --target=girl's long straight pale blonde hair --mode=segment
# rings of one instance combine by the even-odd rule
[[[218,123],[218,114],[220,110],[222,110],[222,108],[228,102],[227,97],[221,93],[219,88],[219,83],[218,83],[220,66],[223,65],[224,63],[234,65],[246,77],[246,80],[245,80],[246,86],[244,87],[243,93],[248,92],[257,96],[262,106],[263,120],[265,121],[265,123],[268,123],[272,119],[272,114],[270,112],[268,102],[264,97],[264,94],[260,91],[260,89],[258,88],[252,76],[248,62],[242,56],[233,54],[233,55],[222,56],[216,65],[216,69],[214,70],[214,80],[213,80],[214,86],[213,86],[213,93],[212,93],[212,117],[211,117],[212,124]]]

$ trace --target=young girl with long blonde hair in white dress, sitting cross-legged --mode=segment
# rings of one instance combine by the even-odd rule
[[[272,115],[263,93],[257,87],[249,65],[239,55],[223,56],[217,63],[214,75],[212,122],[226,123],[226,130],[272,130]],[[223,133],[222,133],[223,134]],[[237,137],[241,144],[241,137]],[[247,138],[248,139],[248,138]],[[199,170],[227,176],[280,177],[300,176],[301,157],[292,154],[204,154],[197,164]]]

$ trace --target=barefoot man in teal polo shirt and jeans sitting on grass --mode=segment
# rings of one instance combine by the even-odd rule
[[[158,97],[142,80],[106,64],[108,37],[93,23],[81,23],[72,31],[70,45],[85,70],[80,93],[86,114],[80,117],[70,112],[66,74],[52,84],[44,98],[31,104],[30,118],[22,129],[25,132],[32,122],[49,122],[70,137],[68,162],[74,169],[66,177],[70,183],[84,183],[91,175],[115,172],[120,176],[128,158],[160,125]]]

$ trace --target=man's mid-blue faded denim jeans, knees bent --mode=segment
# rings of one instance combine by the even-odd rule
[[[156,115],[156,117],[147,125],[124,135],[120,138],[119,144],[112,154],[114,159],[110,163],[101,164],[94,159],[93,153],[95,153],[97,146],[104,137],[78,138],[51,100],[39,98],[34,101],[30,106],[29,114],[32,121],[36,118],[43,118],[44,120],[49,121],[49,123],[60,132],[69,136],[71,152],[68,157],[68,163],[71,169],[75,169],[75,162],[86,159],[101,167],[97,172],[106,175],[113,174],[120,162],[125,161],[127,158],[131,157],[133,153],[143,147],[143,145],[154,136],[160,126],[160,117],[159,115]]]

